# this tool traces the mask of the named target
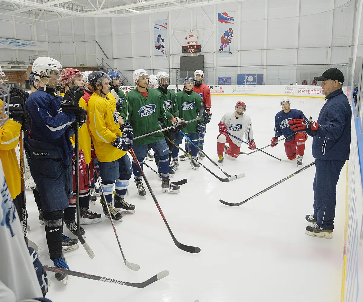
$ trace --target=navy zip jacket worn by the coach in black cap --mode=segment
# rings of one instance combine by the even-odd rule
[[[348,160],[350,151],[352,110],[342,89],[327,99],[318,117],[318,132],[313,137],[312,153],[322,160]]]

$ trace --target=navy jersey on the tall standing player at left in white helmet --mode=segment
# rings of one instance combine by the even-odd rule
[[[48,88],[49,89],[49,88]],[[54,90],[39,90],[31,93],[25,102],[26,110],[32,118],[30,136],[32,139],[56,146],[64,164],[70,164],[73,146],[70,137],[74,130],[70,125],[76,120],[73,111],[62,112],[63,97],[54,95]]]

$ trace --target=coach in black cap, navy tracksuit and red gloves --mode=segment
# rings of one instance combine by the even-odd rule
[[[318,121],[291,119],[290,128],[313,136],[312,153],[315,158],[314,214],[305,219],[312,225],[306,227],[310,236],[333,238],[337,183],[340,170],[349,159],[350,124],[352,112],[342,84],[343,73],[337,68],[325,70],[321,87],[326,103],[320,110]]]

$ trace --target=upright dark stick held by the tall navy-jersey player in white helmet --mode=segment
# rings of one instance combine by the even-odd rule
[[[79,142],[78,142],[78,122],[76,122],[76,128],[74,129],[74,140],[76,141],[75,144],[75,149],[76,149],[76,155],[75,155],[75,160],[76,160],[76,211],[77,211],[77,237],[79,242],[81,242],[83,248],[86,250],[88,256],[93,259],[94,258],[94,253],[93,250],[91,250],[91,248],[89,247],[89,245],[87,244],[87,242],[84,240],[84,238],[82,237],[81,234],[81,226],[79,223]]]

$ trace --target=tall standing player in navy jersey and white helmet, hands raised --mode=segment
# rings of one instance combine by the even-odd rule
[[[78,106],[83,90],[74,86],[64,98],[54,94],[64,87],[65,81],[61,79],[62,65],[52,58],[38,58],[32,72],[41,87],[29,95],[25,104],[32,120],[28,137],[32,154],[30,171],[40,196],[50,259],[54,266],[69,269],[62,254],[63,210],[72,198],[71,124],[85,121],[85,114]],[[72,105],[74,111],[67,105]],[[56,273],[55,277],[64,280],[66,275]]]

